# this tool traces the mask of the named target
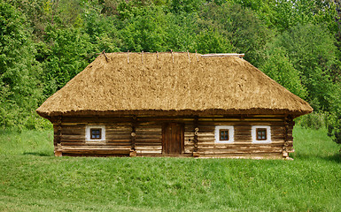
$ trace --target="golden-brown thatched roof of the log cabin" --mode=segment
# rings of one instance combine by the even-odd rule
[[[105,55],[43,102],[38,114],[300,116],[313,110],[239,57],[187,52]]]

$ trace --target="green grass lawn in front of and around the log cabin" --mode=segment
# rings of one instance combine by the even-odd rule
[[[294,136],[294,161],[93,158],[54,157],[50,131],[0,131],[0,211],[341,211],[339,147]]]

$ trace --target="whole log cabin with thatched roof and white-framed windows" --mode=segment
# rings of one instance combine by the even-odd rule
[[[58,156],[289,159],[313,109],[242,57],[103,52],[36,111]]]

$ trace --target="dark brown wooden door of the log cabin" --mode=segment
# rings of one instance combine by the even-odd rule
[[[184,127],[179,123],[168,123],[162,129],[162,153],[181,155],[183,152]]]

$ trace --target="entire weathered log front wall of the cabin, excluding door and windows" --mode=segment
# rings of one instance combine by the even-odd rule
[[[283,158],[284,142],[286,151],[293,151],[294,122],[284,115],[136,117],[135,121],[132,121],[132,117],[63,117],[61,125],[57,119],[54,124],[54,145],[56,150],[61,149],[62,155],[129,155],[134,147],[138,156],[161,156],[162,125],[169,122],[184,124],[182,156],[192,156],[195,152],[200,157]],[[86,141],[86,125],[105,125],[106,140]],[[216,143],[216,125],[233,125],[235,141],[228,144]],[[252,143],[252,125],[270,125],[272,142]],[[134,138],[132,135],[135,135]],[[198,145],[195,145],[196,142]]]

